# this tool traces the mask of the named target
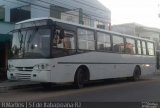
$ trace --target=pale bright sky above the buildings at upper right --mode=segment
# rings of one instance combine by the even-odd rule
[[[111,10],[111,23],[138,23],[160,29],[160,0],[99,0]]]

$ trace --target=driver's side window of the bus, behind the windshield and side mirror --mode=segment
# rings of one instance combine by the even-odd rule
[[[75,50],[75,33],[73,31],[64,30],[60,34],[60,29],[57,29],[53,38],[53,57],[63,57],[73,55]]]

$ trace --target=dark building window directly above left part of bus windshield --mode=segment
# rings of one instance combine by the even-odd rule
[[[31,18],[31,6],[22,6],[19,8],[13,8],[10,12],[10,21],[19,22]]]

